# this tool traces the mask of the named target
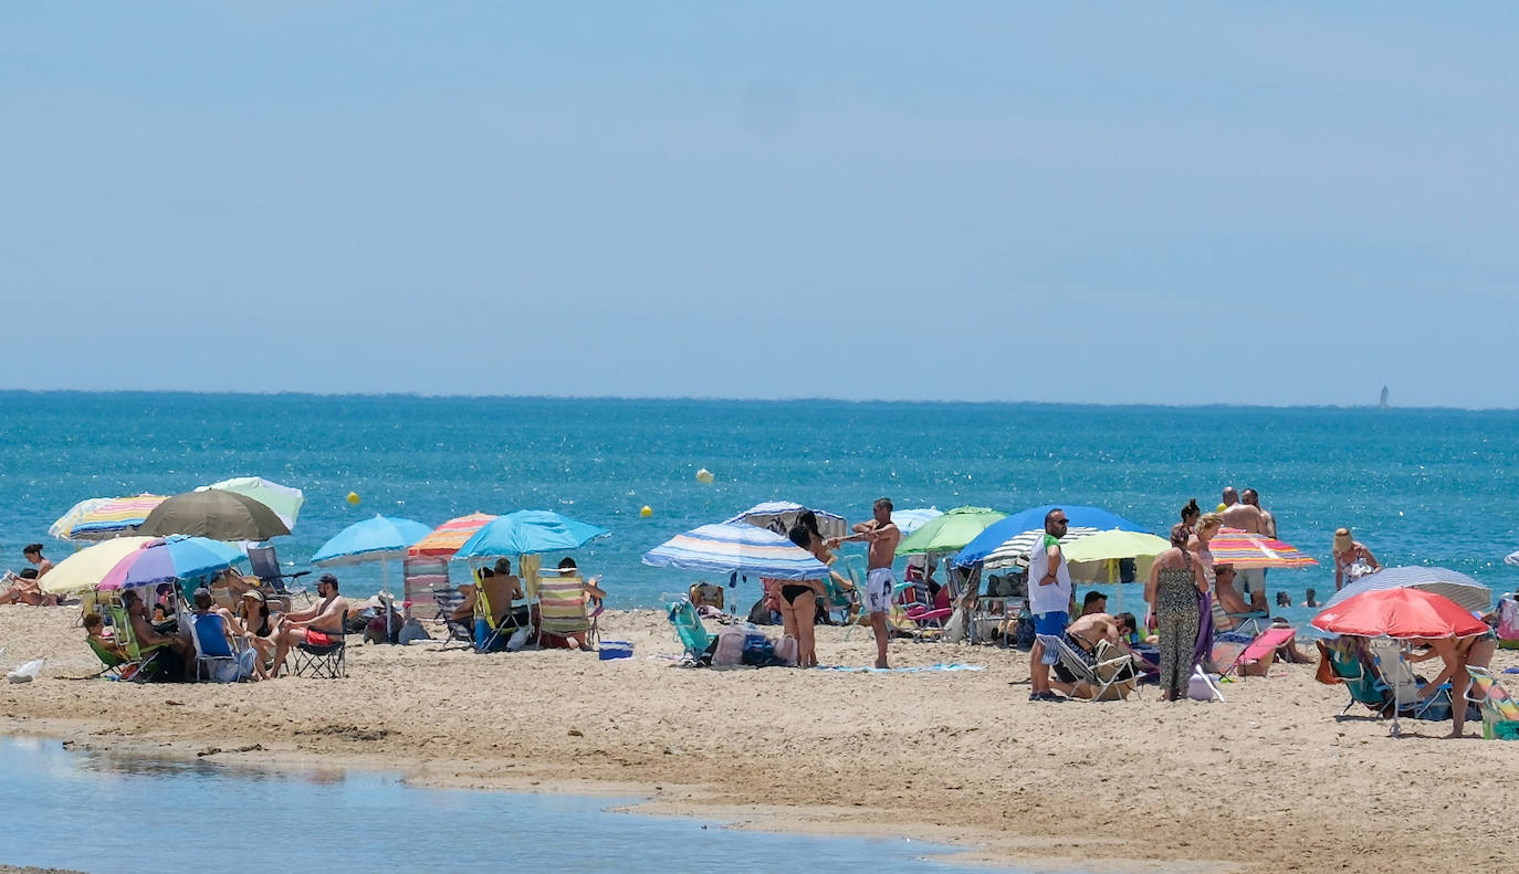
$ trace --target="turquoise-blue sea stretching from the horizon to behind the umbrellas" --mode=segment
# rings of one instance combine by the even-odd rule
[[[697,483],[700,467],[715,483]],[[1323,563],[1271,572],[1294,604],[1334,589],[1341,525],[1384,564],[1519,586],[1502,564],[1519,549],[1519,411],[837,401],[0,393],[0,566],[21,567],[33,540],[68,554],[47,527],[79,499],[235,475],[305,490],[295,533],[275,540],[295,567],[374,513],[594,522],[612,536],[577,558],[614,607],[696,581],[641,564],[644,551],[760,501],[851,520],[881,495],[899,508],[1091,504],[1165,534],[1189,498],[1211,507],[1224,484],[1258,489],[1282,539]],[[377,566],[339,574],[351,593],[380,586]]]

